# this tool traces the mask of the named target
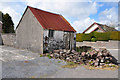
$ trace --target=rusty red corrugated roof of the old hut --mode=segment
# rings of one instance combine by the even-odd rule
[[[28,8],[32,11],[44,29],[76,32],[62,15],[50,13],[30,6],[28,6]]]

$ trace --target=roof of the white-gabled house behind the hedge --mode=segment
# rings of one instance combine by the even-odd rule
[[[94,24],[98,25],[98,28],[101,29],[103,32],[109,32],[109,31],[117,31],[115,28],[107,26],[107,25],[103,25],[100,23],[96,23],[94,22],[91,26],[89,26],[85,31],[83,31],[83,33],[85,33],[88,29],[90,29]],[[93,31],[95,31],[96,29],[94,29]]]

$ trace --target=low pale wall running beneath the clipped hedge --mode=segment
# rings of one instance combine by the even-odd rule
[[[76,46],[91,46],[94,48],[107,48],[107,49],[119,49],[120,48],[120,41],[109,40],[107,41],[97,41],[97,42],[77,42]]]

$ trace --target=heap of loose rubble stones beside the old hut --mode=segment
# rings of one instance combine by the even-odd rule
[[[109,66],[117,64],[115,58],[105,48],[99,50],[90,48],[89,50],[79,52],[75,50],[60,49],[50,53],[44,53],[43,55],[68,62],[74,62],[76,64],[85,64],[95,67],[105,66],[106,64]]]

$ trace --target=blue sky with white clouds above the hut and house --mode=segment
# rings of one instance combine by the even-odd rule
[[[92,23],[116,24],[118,0],[1,0],[0,11],[9,13],[15,28],[27,5],[63,15],[78,33]],[[114,2],[113,2],[114,1]]]

